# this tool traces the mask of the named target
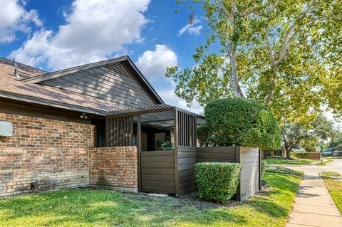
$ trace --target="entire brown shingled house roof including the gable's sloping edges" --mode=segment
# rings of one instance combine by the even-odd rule
[[[95,68],[124,60],[130,65],[138,77],[140,77],[142,83],[150,90],[151,94],[160,103],[164,103],[128,56],[103,60],[97,63],[81,65],[53,73],[48,73],[22,63],[16,63],[21,79],[14,76],[15,67],[13,61],[6,58],[0,58],[0,98],[4,97],[11,100],[20,100],[51,107],[61,107],[68,110],[105,115],[104,112],[117,110],[122,107],[119,107],[115,102],[38,83],[69,73],[74,73],[79,70],[86,70],[88,68]]]

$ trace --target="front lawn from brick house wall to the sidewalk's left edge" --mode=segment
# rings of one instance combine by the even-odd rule
[[[69,189],[0,199],[0,226],[285,226],[301,177],[264,174],[244,203]]]

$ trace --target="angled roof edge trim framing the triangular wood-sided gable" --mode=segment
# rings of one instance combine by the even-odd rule
[[[155,89],[152,87],[152,85],[150,85],[150,83],[147,81],[147,79],[145,78],[144,75],[142,75],[142,73],[140,72],[140,70],[137,68],[137,66],[133,63],[133,61],[130,59],[129,56],[122,56],[122,57],[118,57],[118,58],[111,58],[108,60],[101,60],[95,63],[89,63],[86,65],[79,65],[76,67],[72,67],[72,68],[67,68],[64,70],[58,70],[56,72],[52,72],[52,73],[46,73],[43,75],[36,75],[34,77],[31,78],[26,78],[22,81],[24,82],[28,82],[28,83],[40,83],[42,81],[45,80],[51,80],[51,79],[55,79],[55,78],[59,78],[63,75],[68,75],[71,73],[76,73],[78,71],[81,70],[87,70],[90,68],[97,68],[103,65],[110,65],[113,63],[118,63],[118,62],[127,62],[128,65],[130,66],[130,68],[133,70],[133,72],[135,72],[136,75],[138,75],[138,78],[140,78],[140,80],[142,80],[142,83],[145,85],[145,87],[150,91],[150,93],[152,93],[152,95],[160,102],[160,103],[165,103],[162,98],[157,94],[157,92],[155,91]]]

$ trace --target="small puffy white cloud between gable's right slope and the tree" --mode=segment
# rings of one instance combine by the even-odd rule
[[[136,63],[150,80],[165,78],[166,68],[177,65],[177,55],[166,45],[155,45],[155,51],[145,51]]]

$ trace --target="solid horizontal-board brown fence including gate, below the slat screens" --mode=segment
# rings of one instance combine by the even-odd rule
[[[196,191],[194,165],[197,162],[237,162],[242,164],[235,198],[245,200],[261,188],[261,156],[249,147],[177,147],[174,152],[141,153],[142,191],[184,196]],[[176,171],[175,165],[176,163]]]

